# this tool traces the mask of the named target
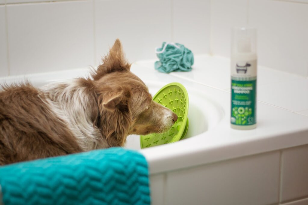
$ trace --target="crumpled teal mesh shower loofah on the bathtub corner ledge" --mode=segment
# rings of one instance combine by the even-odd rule
[[[193,53],[182,44],[163,42],[155,52],[160,61],[156,61],[154,66],[162,73],[192,70]]]

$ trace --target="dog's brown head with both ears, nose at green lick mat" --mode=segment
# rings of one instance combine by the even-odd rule
[[[167,131],[177,120],[170,109],[154,102],[147,86],[130,72],[117,39],[103,64],[93,74],[99,126],[110,146],[122,146],[129,134]]]

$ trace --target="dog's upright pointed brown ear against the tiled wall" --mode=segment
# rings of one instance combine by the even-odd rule
[[[129,71],[130,67],[131,64],[125,59],[120,40],[116,39],[108,55],[103,58],[103,64],[99,65],[98,69],[93,74],[93,79],[98,80],[105,74],[115,71]]]

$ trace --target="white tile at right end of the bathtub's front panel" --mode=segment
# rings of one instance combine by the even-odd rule
[[[282,152],[281,202],[308,195],[308,146]]]

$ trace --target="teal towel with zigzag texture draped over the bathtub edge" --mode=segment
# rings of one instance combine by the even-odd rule
[[[123,148],[2,166],[0,185],[5,205],[150,204],[147,161]]]

